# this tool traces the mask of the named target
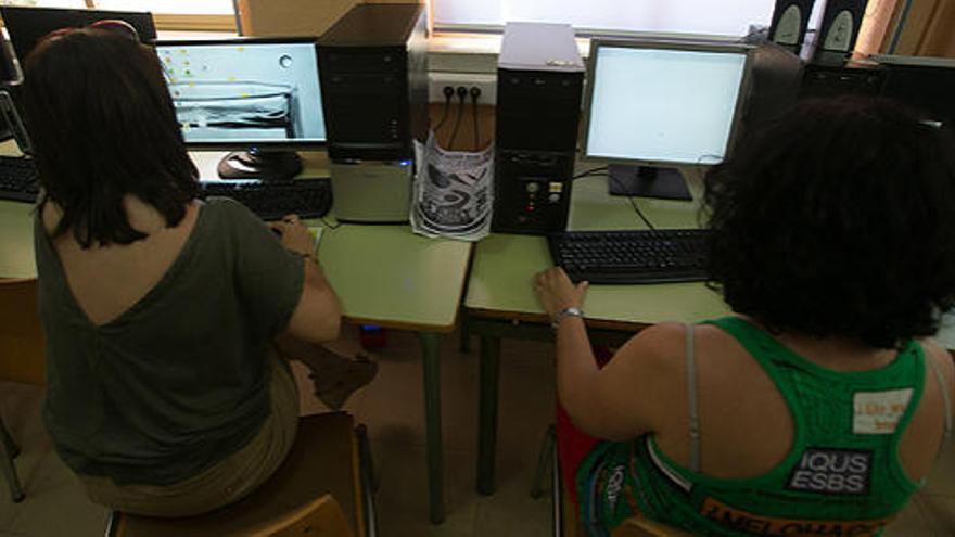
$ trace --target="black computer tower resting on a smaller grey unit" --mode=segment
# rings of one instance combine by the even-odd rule
[[[319,38],[329,157],[413,156],[428,135],[426,33],[421,4],[358,4]]]

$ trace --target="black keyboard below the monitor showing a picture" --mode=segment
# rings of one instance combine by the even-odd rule
[[[207,196],[231,197],[263,220],[279,220],[292,213],[321,218],[332,206],[328,179],[204,181],[202,197]]]

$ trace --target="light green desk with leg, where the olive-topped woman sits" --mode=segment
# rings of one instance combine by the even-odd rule
[[[0,144],[0,152],[9,148]],[[202,177],[215,177],[221,153],[196,153]],[[305,175],[322,176],[321,154],[306,154]],[[31,278],[33,207],[0,202],[0,278]],[[322,226],[307,220],[307,226]],[[319,245],[326,276],[338,293],[346,322],[418,332],[424,374],[430,517],[444,520],[443,447],[438,348],[454,331],[463,294],[471,244],[431,240],[408,226],[342,225],[326,229]]]

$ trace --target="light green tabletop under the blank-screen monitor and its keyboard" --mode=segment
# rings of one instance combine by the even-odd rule
[[[686,175],[693,202],[634,199],[654,227],[699,227],[701,174],[688,169]],[[626,197],[607,194],[606,177],[574,182],[569,229],[645,228]],[[544,238],[492,234],[475,247],[464,306],[480,317],[544,322],[547,319],[531,282],[551,265]],[[699,321],[729,312],[720,295],[703,283],[591,285],[583,309],[589,325],[608,329],[666,320]]]

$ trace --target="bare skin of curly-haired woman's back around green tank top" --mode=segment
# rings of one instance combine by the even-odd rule
[[[677,353],[674,356],[684,356],[683,327],[668,330],[680,332],[673,350]],[[794,423],[787,401],[765,369],[733,335],[715,325],[703,324],[697,327],[695,336],[701,471],[727,480],[755,477],[768,472],[792,448]],[[894,349],[864,349],[808,337],[781,336],[777,344],[819,368],[848,373],[850,378],[854,372],[887,368],[897,357]],[[921,368],[925,392],[900,445],[905,473],[916,482],[925,477],[934,462],[943,435],[944,402],[928,360],[934,360],[942,369],[948,386],[953,380],[952,359],[947,353],[930,342],[921,345],[926,355],[926,366]],[[685,370],[685,366],[682,369]],[[678,386],[671,391],[673,400],[667,402],[672,405],[671,409],[686,409],[686,399],[679,397],[687,395],[683,375],[677,374],[676,384]],[[664,453],[687,465],[687,412],[667,413],[666,417],[672,421],[654,435],[657,444]],[[851,429],[851,424],[848,426]]]

